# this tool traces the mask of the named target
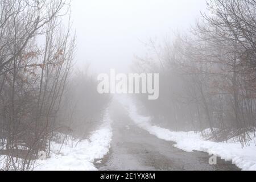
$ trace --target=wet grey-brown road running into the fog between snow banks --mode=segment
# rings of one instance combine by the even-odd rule
[[[94,163],[99,170],[239,170],[221,159],[210,165],[207,153],[185,152],[175,148],[174,142],[158,139],[135,125],[121,105],[110,107],[110,115],[112,146],[108,155]]]

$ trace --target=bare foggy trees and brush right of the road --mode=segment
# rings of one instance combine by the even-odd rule
[[[189,32],[138,57],[138,72],[160,73],[159,99],[139,100],[156,121],[177,131],[203,131],[217,142],[251,140],[256,124],[256,1],[208,1]],[[204,135],[204,133],[203,133]]]

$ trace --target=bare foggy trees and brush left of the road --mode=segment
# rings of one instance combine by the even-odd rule
[[[76,36],[62,23],[69,16],[68,3],[0,2],[0,155],[8,155],[4,169],[31,168],[39,151],[50,151],[53,139],[65,142],[70,133],[84,137],[108,99],[96,95],[97,80],[86,69],[72,73]]]

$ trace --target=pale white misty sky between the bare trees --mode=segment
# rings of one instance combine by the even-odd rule
[[[134,55],[143,56],[142,42],[163,39],[191,26],[205,0],[73,0],[77,64],[94,72],[126,71]]]

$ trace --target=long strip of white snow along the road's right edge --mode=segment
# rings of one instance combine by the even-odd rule
[[[118,101],[127,109],[129,117],[142,129],[150,134],[168,141],[176,142],[175,147],[181,150],[192,152],[204,151],[211,155],[217,155],[221,159],[231,160],[233,164],[242,170],[256,170],[256,138],[250,142],[250,146],[241,147],[239,142],[217,143],[206,141],[200,133],[174,132],[162,127],[153,125],[150,117],[138,114],[137,107],[131,98],[119,96]]]

